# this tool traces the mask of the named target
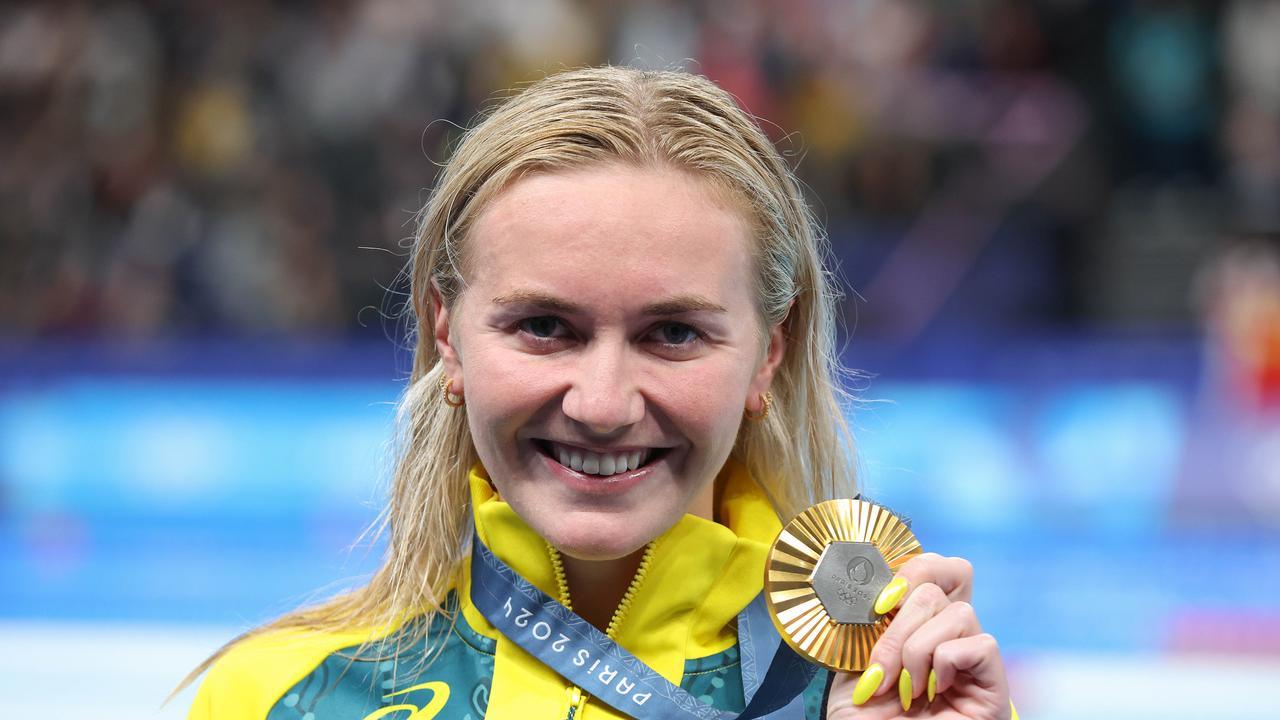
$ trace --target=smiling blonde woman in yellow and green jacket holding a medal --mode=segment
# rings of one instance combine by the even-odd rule
[[[191,717],[644,717],[645,673],[728,716],[764,697],[740,625],[780,518],[854,492],[822,256],[704,78],[585,69],[507,101],[421,217],[385,564],[220,651]],[[771,716],[1007,717],[970,591],[965,561],[911,560],[876,664]],[[588,660],[605,684],[566,679]]]

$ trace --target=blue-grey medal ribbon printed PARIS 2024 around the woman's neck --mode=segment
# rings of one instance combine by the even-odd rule
[[[741,715],[717,710],[699,702],[534,587],[479,537],[474,537],[471,544],[471,603],[509,641],[584,692],[632,717],[755,720],[803,716],[799,696],[817,671],[782,642],[769,619],[764,594],[758,594],[737,616],[746,708]],[[762,671],[763,662],[768,665]]]

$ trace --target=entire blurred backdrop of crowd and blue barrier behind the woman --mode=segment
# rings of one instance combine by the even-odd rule
[[[0,8],[0,716],[180,717],[367,575],[412,214],[603,61],[797,167],[863,486],[974,561],[1024,716],[1271,710],[1280,1],[63,0]]]

